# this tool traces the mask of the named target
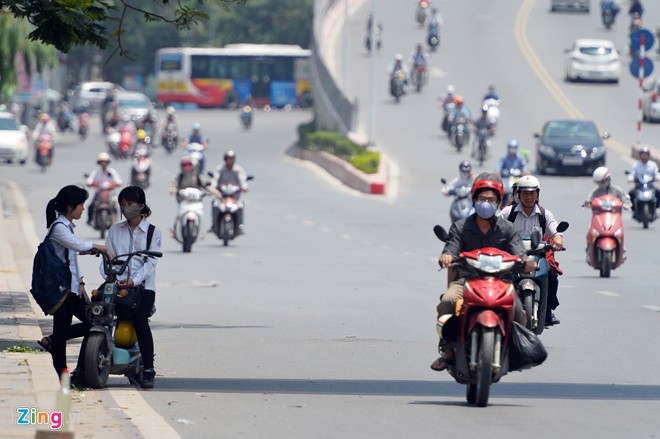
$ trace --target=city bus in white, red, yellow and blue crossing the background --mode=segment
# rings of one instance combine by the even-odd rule
[[[156,99],[168,105],[237,108],[311,106],[310,51],[300,46],[230,44],[156,52]]]

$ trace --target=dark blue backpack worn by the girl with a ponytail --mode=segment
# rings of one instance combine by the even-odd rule
[[[53,228],[61,222],[53,223],[44,241],[39,244],[32,265],[32,288],[30,293],[41,307],[44,314],[55,314],[71,291],[71,270],[69,269],[69,250],[62,261],[50,240]]]

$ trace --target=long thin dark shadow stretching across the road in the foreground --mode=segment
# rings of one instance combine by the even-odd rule
[[[254,378],[159,377],[158,391],[218,393],[280,393],[371,396],[464,397],[465,387],[454,382],[404,380],[297,380]],[[660,385],[580,383],[498,383],[500,398],[660,400]]]

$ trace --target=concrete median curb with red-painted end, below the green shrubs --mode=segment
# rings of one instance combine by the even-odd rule
[[[385,195],[388,192],[389,161],[383,153],[381,153],[380,165],[376,174],[365,174],[359,169],[355,169],[350,163],[325,151],[307,151],[294,145],[289,148],[287,154],[300,160],[316,163],[346,186],[365,194]]]

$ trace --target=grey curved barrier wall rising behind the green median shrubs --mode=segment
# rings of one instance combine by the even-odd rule
[[[312,96],[316,128],[337,131],[346,135],[355,129],[357,102],[351,102],[341,90],[323,60],[323,21],[328,10],[339,0],[316,0],[314,3],[314,25],[310,48],[312,70]]]

